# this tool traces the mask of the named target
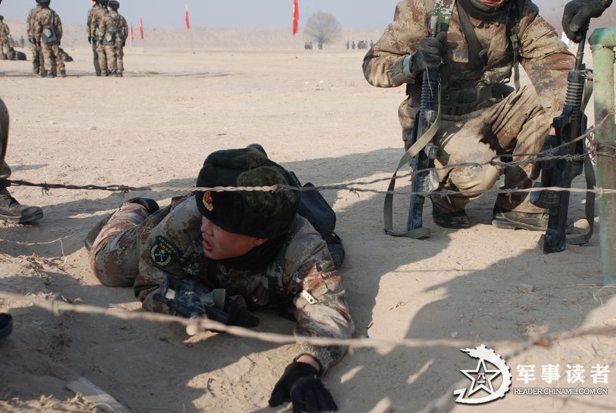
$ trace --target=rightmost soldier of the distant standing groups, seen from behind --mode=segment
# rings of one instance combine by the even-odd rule
[[[128,37],[128,24],[126,19],[118,13],[118,8],[120,8],[118,1],[109,0],[110,10],[98,24],[98,33],[102,36],[101,44],[105,46],[108,75],[122,77],[124,72],[123,47]]]

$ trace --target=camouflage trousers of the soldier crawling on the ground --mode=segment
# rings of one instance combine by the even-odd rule
[[[165,210],[168,212],[167,208]],[[120,205],[100,230],[90,250],[90,269],[102,285],[133,286],[139,273],[140,245],[165,216],[163,210],[150,215],[137,203]]]

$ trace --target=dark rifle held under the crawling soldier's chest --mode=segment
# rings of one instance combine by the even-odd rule
[[[226,325],[255,327],[259,319],[248,313],[241,295],[232,297],[222,288],[213,289],[192,278],[174,277],[165,273],[154,301],[168,306],[186,318],[207,317]]]

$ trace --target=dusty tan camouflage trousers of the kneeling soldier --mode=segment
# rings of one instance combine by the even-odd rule
[[[401,121],[403,107],[404,102]],[[411,110],[409,107],[407,113]],[[551,123],[536,92],[529,86],[523,86],[487,109],[464,116],[443,116],[433,140],[439,148],[435,167],[442,168],[438,174],[443,189],[464,194],[434,196],[433,202],[446,212],[460,211],[490,190],[503,174],[505,189],[532,187],[529,178],[532,163],[504,167],[489,162],[507,154],[513,158],[506,157],[505,161],[532,158],[526,154],[541,151]],[[496,206],[517,212],[545,212],[530,203],[528,192],[498,194]]]

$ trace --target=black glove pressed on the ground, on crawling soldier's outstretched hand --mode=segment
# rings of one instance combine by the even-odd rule
[[[292,362],[274,386],[269,405],[274,407],[283,401],[292,401],[293,413],[337,412],[332,394],[317,375],[318,371],[307,362]]]

